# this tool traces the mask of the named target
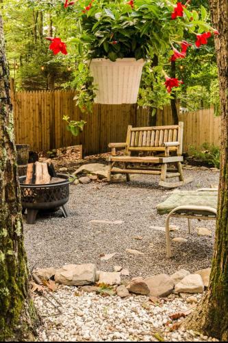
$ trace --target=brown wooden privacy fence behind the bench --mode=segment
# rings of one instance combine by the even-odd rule
[[[51,150],[69,145],[83,145],[84,154],[107,152],[110,142],[125,141],[127,126],[147,126],[148,108],[137,105],[94,105],[93,113],[81,113],[75,106],[75,91],[31,91],[12,95],[16,143],[26,143],[31,150]],[[73,137],[62,120],[84,119],[84,132]],[[220,117],[214,111],[199,110],[179,115],[184,122],[183,151],[190,145],[200,148],[205,142],[219,145]],[[159,110],[156,125],[172,125],[170,107]]]

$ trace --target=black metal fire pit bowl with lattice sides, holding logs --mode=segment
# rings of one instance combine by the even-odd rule
[[[47,185],[25,185],[26,176],[19,178],[21,185],[21,204],[23,213],[27,209],[27,224],[35,224],[39,211],[54,211],[60,208],[64,217],[68,217],[66,202],[69,200],[69,176],[57,174],[62,181]]]

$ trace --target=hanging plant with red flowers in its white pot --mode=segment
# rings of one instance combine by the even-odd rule
[[[168,56],[171,56],[171,60],[178,60],[186,57],[190,46],[199,49],[201,45],[207,44],[212,34],[218,34],[218,31],[207,23],[207,11],[203,6],[196,11],[190,10],[189,4],[190,1],[176,0],[64,1],[65,10],[71,13],[71,18],[75,16],[77,27],[75,37],[70,41],[76,43],[81,58],[85,62],[90,61],[88,63],[94,78],[94,87],[98,88],[97,91],[92,87],[81,89],[82,95],[77,95],[77,99],[84,98],[88,104],[90,100],[99,102],[102,98],[108,103],[111,96],[107,92],[112,88],[113,92],[119,93],[112,96],[110,101],[118,103],[113,101],[118,101],[124,88],[129,88],[132,83],[139,88],[142,66],[147,60],[151,60],[154,54],[167,56],[167,61],[170,59]],[[50,45],[54,54],[65,47],[61,40],[56,42],[60,45],[56,47],[55,44],[55,50],[53,42]],[[135,75],[139,75],[139,78],[135,80],[133,76],[129,85],[121,88],[121,85],[125,84],[122,77],[129,69],[129,64],[125,69],[115,69],[114,65],[117,66],[125,59],[131,59],[127,62],[132,63],[141,61],[141,65],[135,69]],[[95,70],[94,67],[96,65],[97,68],[98,62],[105,64],[103,70],[106,75],[104,73],[102,77],[101,68]],[[112,78],[110,73],[107,73],[108,70],[112,73]],[[129,79],[130,75],[126,75]],[[117,80],[117,76],[120,79]],[[110,84],[106,81],[101,84],[101,80],[106,80],[106,77]],[[88,78],[91,78],[91,75],[88,75]],[[165,75],[164,85],[168,92],[173,87],[179,87],[181,83],[181,80]],[[121,91],[118,88],[121,88]],[[87,95],[84,92],[87,92]],[[136,96],[131,96],[129,103],[136,102],[137,95],[138,89]],[[79,103],[82,108],[84,105],[80,101]]]

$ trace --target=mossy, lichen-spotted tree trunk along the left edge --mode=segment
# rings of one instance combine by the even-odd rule
[[[1,1],[0,1],[1,3]],[[32,338],[37,320],[29,297],[16,168],[9,72],[0,14],[0,341]]]

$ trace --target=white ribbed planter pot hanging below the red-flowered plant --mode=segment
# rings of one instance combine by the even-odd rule
[[[115,62],[94,58],[90,62],[97,104],[136,104],[144,60],[118,58]]]

